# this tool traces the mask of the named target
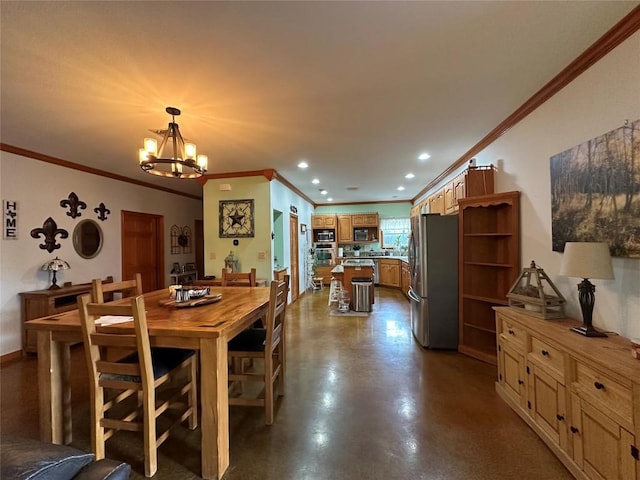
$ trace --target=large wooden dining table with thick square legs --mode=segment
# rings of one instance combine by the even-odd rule
[[[182,308],[166,304],[169,291],[144,294],[153,347],[178,347],[200,353],[200,428],[204,479],[218,479],[229,466],[227,342],[267,313],[268,287],[215,287],[215,303]],[[130,301],[127,299],[116,302]],[[68,444],[72,440],[70,347],[82,342],[77,310],[26,322],[37,332],[40,437]],[[110,325],[133,331],[133,323]],[[88,388],[88,387],[87,387]]]

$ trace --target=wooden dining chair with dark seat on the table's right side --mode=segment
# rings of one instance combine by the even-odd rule
[[[287,311],[287,297],[289,294],[289,275],[283,281],[271,282],[269,308],[265,328],[252,327],[240,332],[229,341],[229,373],[230,393],[234,391],[234,384],[239,382],[262,382],[264,395],[258,398],[247,398],[245,389],[241,389],[242,396],[230,394],[229,405],[263,406],[265,423],[273,424],[274,395],[277,390],[279,396],[284,395],[285,386],[285,316]],[[262,369],[256,364],[245,370],[244,359],[262,359]]]

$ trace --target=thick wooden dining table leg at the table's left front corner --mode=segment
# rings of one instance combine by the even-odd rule
[[[55,342],[51,331],[38,332],[38,395],[40,439],[69,444],[71,425],[71,351]]]

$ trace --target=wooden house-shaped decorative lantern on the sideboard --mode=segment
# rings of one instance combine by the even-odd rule
[[[538,318],[563,318],[567,301],[544,270],[532,261],[507,293],[509,306]]]

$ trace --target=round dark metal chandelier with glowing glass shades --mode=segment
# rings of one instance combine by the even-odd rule
[[[207,171],[207,156],[196,156],[196,145],[185,142],[180,134],[176,116],[180,110],[167,107],[171,122],[166,130],[150,130],[162,137],[160,146],[155,138],[145,138],[140,149],[140,168],[147,173],[173,178],[196,178]],[[166,152],[166,153],[165,153]]]

